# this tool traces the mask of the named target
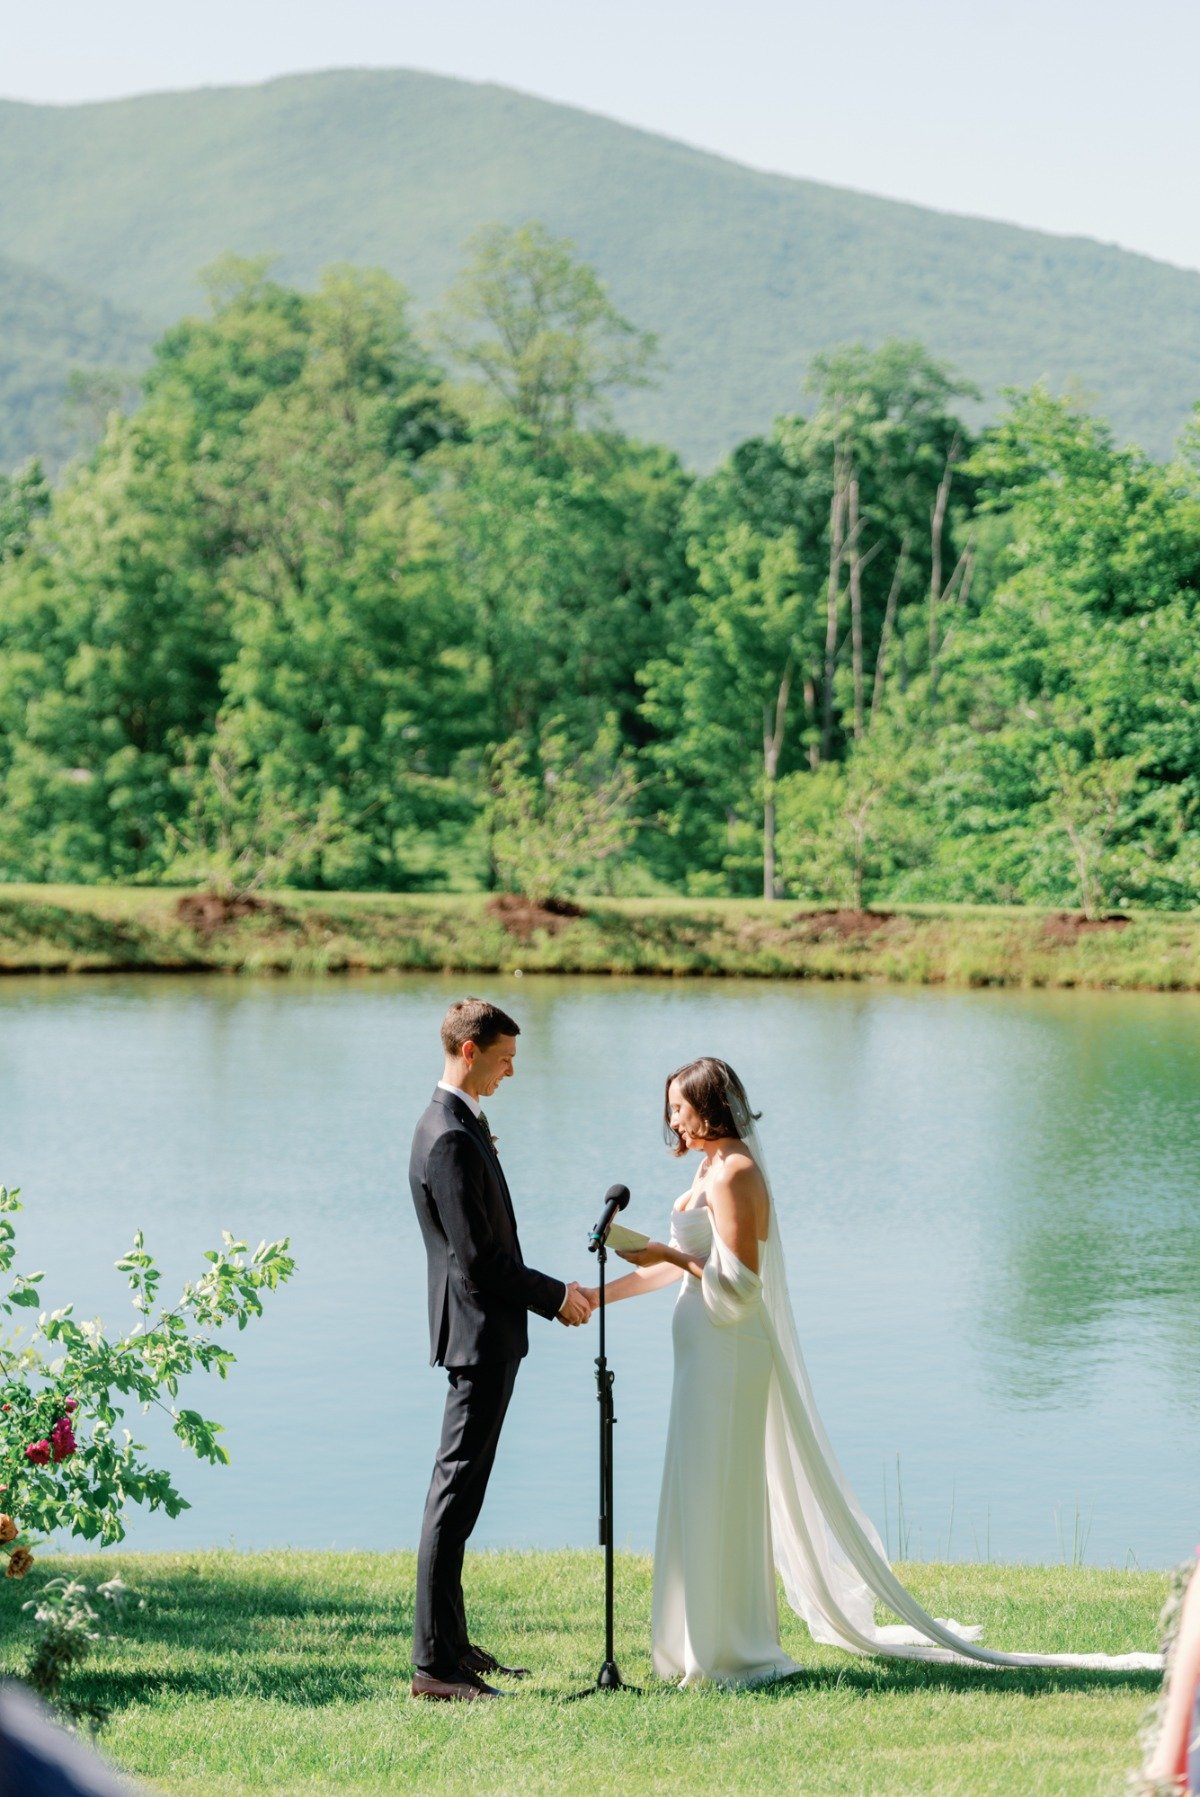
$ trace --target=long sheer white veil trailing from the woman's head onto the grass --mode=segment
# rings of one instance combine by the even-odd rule
[[[938,1619],[891,1571],[884,1544],[850,1490],[812,1396],[796,1317],[787,1292],[771,1179],[754,1120],[729,1094],[738,1134],[767,1186],[771,1226],[760,1249],[762,1305],[771,1335],[774,1373],[767,1403],[767,1492],[774,1562],[792,1610],[814,1641],[851,1653],[886,1653],[911,1660],[959,1660],[984,1666],[1090,1666],[1112,1671],[1160,1669],[1160,1653],[999,1653],[979,1642],[979,1628]],[[713,1226],[717,1265],[706,1269],[706,1299],[719,1317],[756,1297],[749,1274]],[[711,1261],[710,1261],[711,1265]],[[738,1269],[747,1278],[738,1276]],[[875,1605],[902,1619],[878,1626]]]

